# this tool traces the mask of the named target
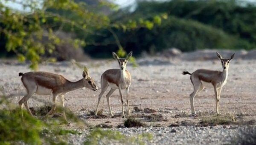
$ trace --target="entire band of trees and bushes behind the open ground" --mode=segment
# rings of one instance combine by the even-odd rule
[[[111,57],[111,51],[155,54],[170,47],[253,49],[256,6],[239,0],[138,0],[131,11],[106,0],[2,0],[0,46],[0,56],[16,55],[34,69],[41,61],[83,61],[83,51]]]

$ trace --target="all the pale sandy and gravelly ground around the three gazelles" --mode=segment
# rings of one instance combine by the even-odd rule
[[[224,57],[224,56],[223,56]],[[207,61],[183,61],[162,57],[139,58],[139,67],[129,65],[127,69],[132,75],[129,100],[134,117],[146,124],[145,128],[117,128],[122,127],[125,119],[121,113],[121,102],[118,91],[111,96],[111,107],[115,118],[110,118],[105,97],[102,97],[100,109],[102,117],[95,118],[90,112],[96,109],[100,93],[100,75],[107,69],[117,68],[118,63],[110,60],[92,60],[83,62],[89,69],[90,76],[99,86],[94,92],[87,88],[68,93],[65,98],[66,106],[79,118],[89,125],[107,125],[112,130],[124,134],[137,134],[149,132],[154,139],[148,143],[154,144],[228,144],[237,135],[244,125],[254,125],[256,119],[256,60],[234,59],[230,64],[229,77],[224,86],[220,99],[220,113],[224,119],[231,119],[226,125],[212,126],[204,120],[216,117],[215,97],[211,85],[195,97],[195,110],[198,116],[191,116],[189,94],[192,93],[192,84],[189,75],[181,75],[182,71],[193,72],[204,68],[221,70],[218,59]],[[9,100],[17,104],[23,97],[25,89],[18,76],[19,72],[30,71],[28,64],[16,61],[0,60],[0,87]],[[41,64],[39,71],[48,71],[64,75],[70,81],[82,78],[82,69],[71,62],[58,62]],[[105,95],[107,94],[106,91]],[[104,95],[104,96],[105,96]],[[29,107],[43,105],[36,98],[45,102],[52,100],[51,96],[36,96],[29,100]],[[126,97],[125,97],[126,99]],[[154,111],[147,112],[150,108]],[[152,117],[153,116],[153,117]],[[107,123],[106,123],[107,122]],[[202,123],[203,122],[203,123]],[[249,123],[248,123],[249,122]],[[70,142],[80,144],[86,136],[87,128],[77,128],[75,124],[67,127],[78,129],[80,135],[71,135]]]

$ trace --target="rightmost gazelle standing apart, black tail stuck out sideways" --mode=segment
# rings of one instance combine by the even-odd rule
[[[234,58],[234,55],[231,55],[230,58],[222,58],[221,55],[217,52],[218,58],[221,60],[223,71],[215,70],[196,70],[194,73],[183,72],[183,75],[189,74],[190,80],[194,86],[194,91],[190,94],[190,105],[192,115],[195,115],[194,108],[194,98],[195,96],[204,89],[202,81],[211,83],[214,88],[215,101],[216,101],[216,113],[218,114],[218,103],[221,97],[221,89],[227,83],[228,68],[230,61]]]

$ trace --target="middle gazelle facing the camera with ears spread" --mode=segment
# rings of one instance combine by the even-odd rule
[[[123,102],[123,96],[122,96],[121,90],[125,89],[126,102],[127,102],[127,106],[128,106],[128,116],[130,116],[131,113],[130,113],[129,102],[128,102],[128,92],[129,92],[129,87],[131,85],[131,75],[128,72],[128,70],[126,70],[126,64],[129,61],[129,59],[131,58],[132,52],[130,52],[126,58],[119,58],[116,55],[115,52],[112,52],[112,54],[113,54],[113,58],[118,61],[120,69],[106,70],[102,74],[102,76],[101,76],[101,89],[102,89],[102,91],[99,94],[95,116],[97,116],[97,114],[98,114],[98,107],[99,107],[100,99],[102,98],[102,95],[104,94],[104,92],[108,89],[108,86],[110,86],[111,90],[107,94],[107,102],[108,102],[109,113],[112,117],[114,117],[113,113],[112,113],[112,110],[111,110],[111,106],[109,104],[109,98],[110,98],[111,94],[116,89],[118,89],[120,97],[121,97],[121,103],[122,103],[122,114],[123,114],[122,117],[125,118],[125,113],[124,113],[124,108],[123,108],[124,107],[123,106],[124,102]]]

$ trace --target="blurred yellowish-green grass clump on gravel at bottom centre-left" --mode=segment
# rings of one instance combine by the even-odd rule
[[[100,128],[96,128],[90,131],[90,134],[86,137],[84,145],[98,145],[99,141],[105,145],[108,145],[111,142],[115,142],[116,144],[145,145],[144,140],[151,140],[152,138],[153,136],[149,133],[142,133],[137,136],[128,137],[119,131],[102,130]]]

